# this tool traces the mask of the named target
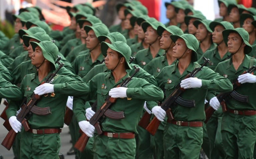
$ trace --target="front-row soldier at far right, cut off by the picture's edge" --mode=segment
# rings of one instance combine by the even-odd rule
[[[222,32],[225,44],[232,57],[219,63],[215,72],[233,81],[238,78],[241,83],[235,91],[238,96],[246,96],[247,102],[242,102],[236,97],[230,96],[226,100],[227,111],[223,113],[221,135],[223,150],[226,159],[253,158],[253,149],[256,141],[256,106],[255,106],[255,71],[252,74],[244,71],[256,65],[254,58],[246,54],[252,50],[249,44],[249,35],[243,28],[227,29]],[[243,74],[243,75],[241,75]],[[213,105],[219,106],[216,97],[210,101]]]

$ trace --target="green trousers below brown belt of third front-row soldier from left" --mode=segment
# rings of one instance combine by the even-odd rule
[[[165,159],[198,159],[202,143],[202,127],[177,126],[171,123],[166,123],[164,127]]]

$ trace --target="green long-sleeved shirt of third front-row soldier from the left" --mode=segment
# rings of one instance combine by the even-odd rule
[[[175,90],[176,86],[183,80],[189,73],[195,68],[199,68],[200,65],[196,62],[191,62],[188,68],[180,75],[177,65],[167,66],[156,76],[158,86],[165,90],[166,98]],[[227,92],[232,90],[232,84],[226,78],[215,73],[208,67],[203,67],[196,76],[202,80],[202,86],[200,88],[189,88],[181,93],[180,97],[186,100],[194,100],[195,107],[185,107],[179,104],[171,107],[175,120],[180,121],[204,121],[204,101],[206,93],[209,90]],[[212,94],[210,99],[214,95]],[[152,108],[150,108],[152,109]]]

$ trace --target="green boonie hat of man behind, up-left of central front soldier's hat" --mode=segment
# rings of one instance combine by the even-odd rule
[[[103,23],[95,23],[93,26],[86,25],[86,26],[84,26],[84,30],[85,30],[86,34],[88,34],[88,32],[90,30],[93,30],[94,34],[97,38],[101,35],[109,34],[108,27]]]

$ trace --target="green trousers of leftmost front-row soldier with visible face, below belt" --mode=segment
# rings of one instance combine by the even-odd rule
[[[59,159],[60,134],[33,134],[21,131],[20,158]]]

